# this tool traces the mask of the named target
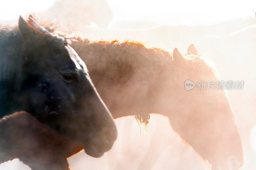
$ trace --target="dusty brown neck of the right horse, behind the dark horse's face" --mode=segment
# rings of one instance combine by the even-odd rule
[[[73,44],[114,118],[161,113],[158,92],[172,79],[172,56],[135,43]]]

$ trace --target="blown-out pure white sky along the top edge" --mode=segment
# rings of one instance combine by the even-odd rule
[[[107,1],[114,20],[147,20],[160,24],[209,24],[253,16],[256,9],[255,0]],[[0,20],[15,19],[28,12],[44,11],[54,2],[55,0],[5,0],[0,5]]]

